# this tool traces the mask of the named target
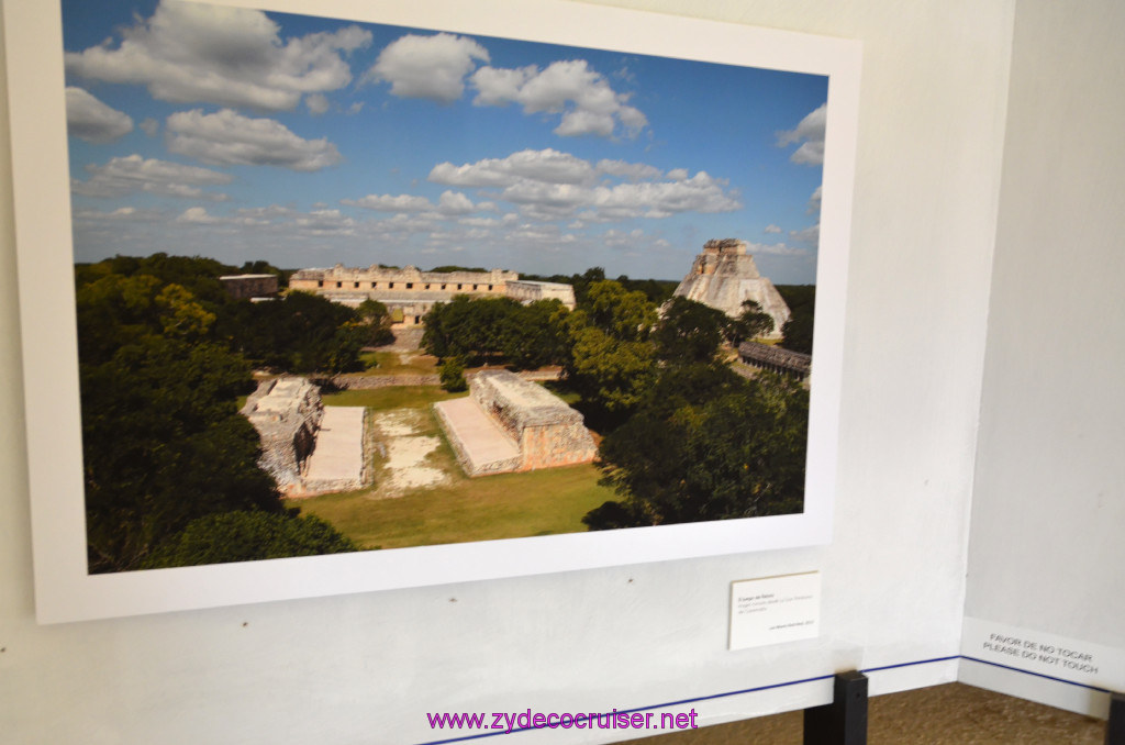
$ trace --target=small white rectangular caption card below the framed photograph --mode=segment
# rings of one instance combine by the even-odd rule
[[[819,572],[730,583],[730,649],[813,639],[819,634]]]

